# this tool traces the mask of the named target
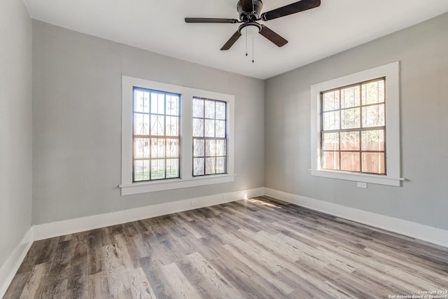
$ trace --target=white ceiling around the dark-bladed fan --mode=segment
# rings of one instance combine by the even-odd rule
[[[448,11],[447,0],[322,0],[321,6],[261,22],[289,41],[277,48],[255,36],[223,44],[238,24],[186,24],[186,17],[238,18],[237,0],[24,0],[31,17],[103,39],[209,67],[269,78]],[[264,0],[262,12],[295,2]],[[428,32],[430,34],[430,32]],[[251,45],[251,43],[249,43]],[[251,49],[251,46],[249,46]]]

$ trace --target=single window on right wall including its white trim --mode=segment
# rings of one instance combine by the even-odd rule
[[[399,63],[311,85],[311,175],[400,186]]]

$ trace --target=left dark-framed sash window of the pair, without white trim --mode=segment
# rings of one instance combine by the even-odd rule
[[[180,95],[134,87],[133,181],[179,178]]]

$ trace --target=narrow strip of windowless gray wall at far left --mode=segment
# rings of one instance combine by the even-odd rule
[[[0,1],[0,267],[31,227],[31,18]]]

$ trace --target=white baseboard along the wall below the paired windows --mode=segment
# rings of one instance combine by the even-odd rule
[[[225,202],[233,202],[235,200],[242,200],[244,197],[261,196],[264,192],[265,188],[261,187],[231,193],[221,193],[204,197],[190,198],[188,200],[179,200],[176,202],[167,202],[165,204],[155,204],[147,207],[127,209],[108,214],[99,214],[83,218],[44,223],[34,225],[33,235],[34,240],[48,239],[50,237],[68,235],[75,232],[93,230],[95,228],[104,228],[109,225],[138,221],[141,219],[178,213],[201,207],[209,207],[216,204],[223,204]]]

